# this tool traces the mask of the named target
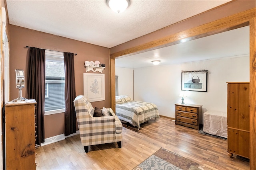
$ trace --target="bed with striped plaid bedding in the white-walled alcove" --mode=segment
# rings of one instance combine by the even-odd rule
[[[153,103],[131,100],[130,96],[116,96],[116,115],[122,121],[138,127],[150,119],[159,118],[158,108]]]

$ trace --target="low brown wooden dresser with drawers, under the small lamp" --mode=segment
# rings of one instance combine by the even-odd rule
[[[202,106],[195,104],[175,104],[175,124],[199,130],[202,123]]]

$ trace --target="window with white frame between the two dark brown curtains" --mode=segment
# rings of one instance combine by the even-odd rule
[[[45,50],[45,111],[65,108],[64,54]],[[60,111],[62,112],[62,111]],[[59,112],[58,112],[59,113]]]

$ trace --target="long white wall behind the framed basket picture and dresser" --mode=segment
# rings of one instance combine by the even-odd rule
[[[174,104],[181,102],[181,71],[208,70],[208,92],[186,91],[185,103],[202,105],[207,110],[227,109],[226,82],[249,82],[249,55],[184,64],[134,69],[134,100],[152,102],[159,114],[175,117]]]

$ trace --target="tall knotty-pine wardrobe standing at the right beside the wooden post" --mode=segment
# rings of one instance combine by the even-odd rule
[[[250,157],[249,82],[228,83],[228,155]]]

